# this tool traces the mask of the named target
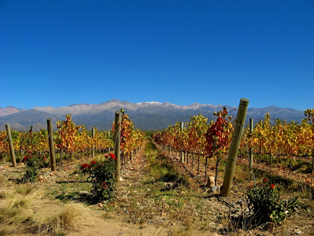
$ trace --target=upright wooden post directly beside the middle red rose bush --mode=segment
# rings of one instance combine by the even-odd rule
[[[115,145],[116,156],[116,181],[120,181],[120,135],[121,135],[121,111],[115,113],[115,133],[113,136],[113,143]]]

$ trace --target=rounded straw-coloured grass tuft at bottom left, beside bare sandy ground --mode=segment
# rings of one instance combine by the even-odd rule
[[[76,202],[70,202],[59,213],[52,216],[35,218],[34,228],[39,234],[81,231],[91,216],[88,209]]]

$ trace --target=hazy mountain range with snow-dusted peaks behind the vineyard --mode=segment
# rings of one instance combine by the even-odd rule
[[[10,127],[17,131],[27,131],[30,126],[33,126],[33,131],[39,131],[47,128],[47,118],[51,118],[56,124],[57,120],[65,120],[66,114],[72,114],[72,121],[76,125],[85,124],[88,130],[92,126],[97,127],[98,131],[109,130],[114,121],[115,111],[121,108],[132,117],[135,128],[143,131],[157,130],[166,128],[168,125],[174,125],[176,121],[190,121],[191,116],[200,113],[212,120],[215,118],[213,113],[222,110],[223,107],[227,108],[230,115],[236,116],[236,107],[228,105],[192,103],[188,106],[182,106],[168,102],[130,103],[118,99],[111,99],[101,104],[71,104],[56,108],[50,106],[34,107],[29,110],[9,106],[0,107],[0,130],[5,130],[4,124],[9,123]],[[288,118],[287,121],[305,118],[304,111],[291,108],[277,106],[248,108],[246,124],[248,124],[249,118],[253,118],[254,124],[263,120],[265,113],[270,114],[272,123],[276,118]],[[54,125],[53,130],[56,129],[57,126]]]

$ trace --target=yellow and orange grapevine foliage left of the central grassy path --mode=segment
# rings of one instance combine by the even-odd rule
[[[139,129],[134,129],[134,124],[128,119],[127,114],[122,115],[121,129],[121,152],[122,157],[132,155],[133,150],[137,150],[143,143],[145,134]],[[66,158],[71,158],[72,155],[77,156],[78,153],[87,154],[96,151],[96,153],[105,153],[113,150],[114,143],[114,124],[110,131],[97,132],[88,131],[84,124],[75,125],[71,120],[71,114],[66,115],[65,121],[57,121],[58,130],[54,132],[53,143],[54,150],[60,154],[66,155]],[[17,132],[11,129],[11,137],[13,142],[14,152],[24,153],[31,151],[44,155],[49,153],[48,132],[42,129],[39,132],[33,132],[30,127],[29,132]],[[0,155],[9,155],[10,148],[8,144],[8,134],[6,131],[0,132]],[[21,161],[21,160],[20,160]],[[47,160],[48,163],[48,160]]]

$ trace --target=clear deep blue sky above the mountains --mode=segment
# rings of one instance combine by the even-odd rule
[[[0,0],[0,106],[314,108],[314,1]]]

